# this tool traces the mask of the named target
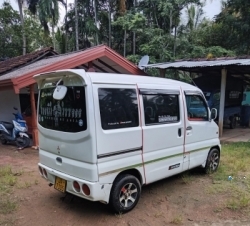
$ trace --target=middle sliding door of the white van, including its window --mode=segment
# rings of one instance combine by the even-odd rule
[[[183,170],[184,116],[180,88],[138,85],[146,183]]]

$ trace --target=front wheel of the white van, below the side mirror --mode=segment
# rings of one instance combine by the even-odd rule
[[[220,151],[216,148],[213,148],[207,157],[207,162],[205,166],[205,173],[211,174],[214,173],[220,164]]]

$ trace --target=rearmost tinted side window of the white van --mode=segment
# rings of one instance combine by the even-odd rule
[[[139,126],[135,89],[98,89],[101,123],[104,130]]]

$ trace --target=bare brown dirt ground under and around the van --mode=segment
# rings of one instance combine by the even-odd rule
[[[0,145],[0,166],[9,164],[22,172],[13,193],[18,200],[13,225],[250,225],[248,212],[227,209],[223,194],[207,192],[212,179],[199,169],[143,187],[135,209],[115,215],[98,202],[71,196],[62,200],[64,194],[40,177],[38,161],[37,150],[17,152],[13,146]]]

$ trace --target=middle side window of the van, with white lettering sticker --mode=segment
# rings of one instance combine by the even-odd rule
[[[178,95],[144,94],[142,96],[146,125],[180,121]]]

